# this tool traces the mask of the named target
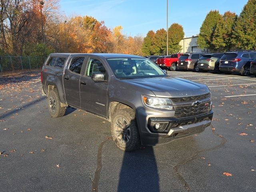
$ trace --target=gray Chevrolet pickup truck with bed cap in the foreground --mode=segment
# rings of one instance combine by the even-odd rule
[[[50,54],[42,91],[52,117],[72,106],[111,122],[125,151],[198,134],[213,116],[206,85],[171,78],[150,60],[126,54]]]

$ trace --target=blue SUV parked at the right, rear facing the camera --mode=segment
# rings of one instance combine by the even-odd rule
[[[226,74],[239,72],[242,76],[250,74],[250,64],[256,58],[253,51],[227,52],[220,59],[220,70]]]

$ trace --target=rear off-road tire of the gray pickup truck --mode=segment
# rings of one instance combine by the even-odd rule
[[[54,102],[55,102],[55,110],[53,110],[53,100],[54,99]],[[47,103],[48,103],[48,109],[49,109],[49,112],[50,112],[50,115],[52,117],[62,117],[64,116],[65,112],[66,112],[66,107],[61,107],[60,106],[60,99],[59,99],[59,96],[58,96],[58,92],[57,90],[50,90],[49,94],[48,94],[48,97],[47,97]]]

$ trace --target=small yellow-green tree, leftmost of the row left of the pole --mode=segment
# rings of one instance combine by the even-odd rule
[[[142,54],[144,56],[154,55],[154,50],[153,50],[154,41],[155,41],[155,32],[150,30],[147,33],[146,37],[144,38],[142,48],[141,48]]]

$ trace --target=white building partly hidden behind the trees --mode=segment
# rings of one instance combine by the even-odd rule
[[[207,49],[200,49],[197,44],[198,35],[192,37],[185,37],[180,41],[180,45],[182,46],[181,53],[186,52],[203,52],[207,53]]]

